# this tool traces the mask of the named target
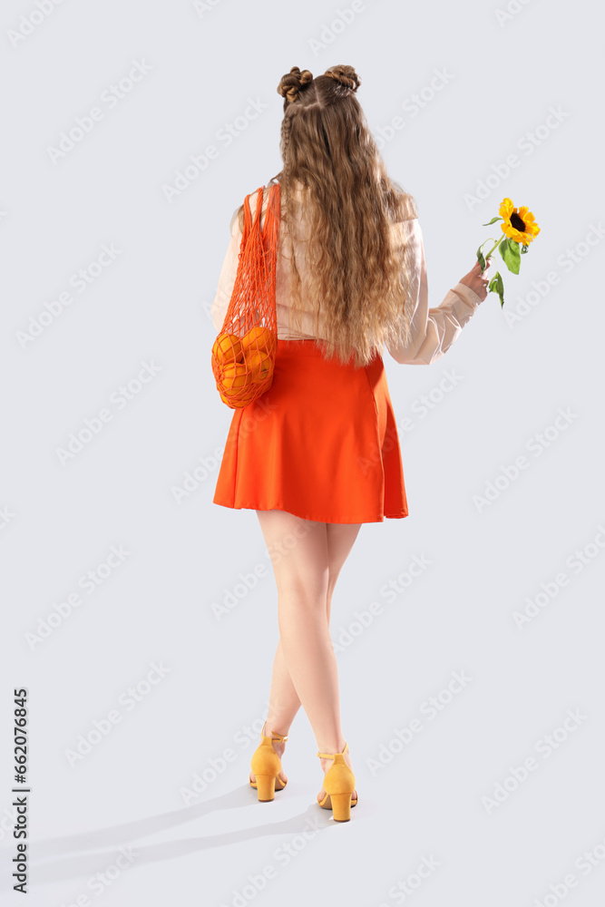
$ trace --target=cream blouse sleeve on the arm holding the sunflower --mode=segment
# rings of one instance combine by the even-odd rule
[[[430,366],[447,353],[460,336],[465,324],[473,317],[482,298],[464,283],[457,283],[447,291],[438,307],[428,307],[426,261],[424,259],[423,233],[418,219],[402,221],[405,230],[407,259],[410,262],[410,293],[413,315],[410,321],[411,340],[386,344],[396,362],[412,366]]]

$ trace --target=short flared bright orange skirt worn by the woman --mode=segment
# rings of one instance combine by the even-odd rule
[[[233,411],[213,503],[319,522],[407,516],[382,357],[355,368],[278,338],[272,385]]]

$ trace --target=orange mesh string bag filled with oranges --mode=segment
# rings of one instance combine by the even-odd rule
[[[244,230],[238,272],[219,336],[212,346],[212,372],[220,399],[231,409],[247,406],[271,386],[278,346],[275,277],[280,219],[279,186],[268,191],[260,229],[264,186],[257,190],[254,220],[244,199]]]

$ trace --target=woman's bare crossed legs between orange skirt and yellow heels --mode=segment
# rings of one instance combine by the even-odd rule
[[[361,524],[301,520],[284,511],[257,514],[278,586],[280,632],[265,733],[288,734],[302,700],[319,751],[340,752],[345,741],[328,627],[337,577]],[[281,756],[285,744],[274,747]],[[332,764],[321,762],[324,771]]]

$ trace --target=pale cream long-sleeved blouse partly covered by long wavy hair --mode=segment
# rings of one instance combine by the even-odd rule
[[[250,210],[254,212],[254,201],[250,199]],[[233,291],[238,271],[241,231],[239,229],[237,209],[230,221],[231,239],[220,271],[219,285],[212,302],[212,323],[220,331],[229,299]],[[261,223],[264,211],[261,211]],[[429,308],[428,285],[426,279],[426,262],[424,259],[423,233],[418,219],[403,220],[394,224],[401,240],[407,249],[406,259],[410,263],[410,286],[413,317],[410,322],[411,342],[387,344],[387,349],[396,362],[405,365],[429,366],[441,358],[454,343],[467,322],[473,317],[482,299],[466,284],[458,282],[447,291],[440,306]],[[302,327],[307,333],[298,333],[289,324],[288,287],[289,264],[282,244],[279,244],[276,268],[276,312],[278,321],[278,338],[301,339],[317,336],[313,333],[313,316],[304,312]],[[304,265],[298,266],[303,278]],[[321,325],[321,321],[320,321]],[[319,334],[321,336],[321,333]]]

